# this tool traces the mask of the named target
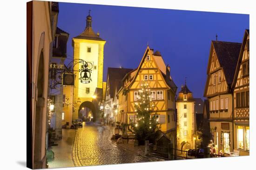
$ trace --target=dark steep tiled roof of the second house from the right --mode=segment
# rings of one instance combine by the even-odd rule
[[[223,68],[226,81],[231,85],[236,71],[236,64],[241,49],[241,43],[212,41],[219,63]]]

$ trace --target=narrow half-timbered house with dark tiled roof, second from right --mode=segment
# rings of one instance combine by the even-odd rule
[[[209,123],[217,153],[233,151],[233,93],[241,44],[212,41],[204,97],[209,100]]]

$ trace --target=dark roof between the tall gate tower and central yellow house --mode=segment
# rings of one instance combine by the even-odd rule
[[[122,80],[123,77],[133,69],[124,69],[124,68],[108,68],[108,81],[109,81],[109,93],[110,98],[114,98],[115,93],[115,83],[116,80]],[[116,84],[118,85],[118,84]],[[118,85],[119,86],[119,85]]]

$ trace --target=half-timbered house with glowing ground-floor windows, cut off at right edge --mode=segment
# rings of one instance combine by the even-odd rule
[[[249,30],[243,44],[232,84],[234,89],[234,147],[240,155],[249,155]]]

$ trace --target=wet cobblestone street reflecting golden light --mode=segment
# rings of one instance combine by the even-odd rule
[[[112,135],[107,126],[86,125],[75,134],[72,158],[75,166],[103,164],[124,164],[158,161],[155,157],[145,157],[121,149],[109,138]]]

